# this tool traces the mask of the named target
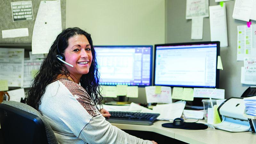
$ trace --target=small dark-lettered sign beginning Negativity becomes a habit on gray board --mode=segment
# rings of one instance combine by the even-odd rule
[[[32,1],[11,2],[12,21],[33,20]]]

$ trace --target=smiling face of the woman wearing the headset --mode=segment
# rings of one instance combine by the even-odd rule
[[[64,56],[65,61],[74,66],[66,66],[71,75],[80,78],[87,74],[92,63],[92,51],[86,36],[75,35],[69,38]]]

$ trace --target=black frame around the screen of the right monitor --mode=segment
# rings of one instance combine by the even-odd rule
[[[176,46],[176,45],[192,45],[192,44],[217,44],[217,55],[216,55],[216,85],[215,87],[208,86],[186,86],[186,85],[164,85],[164,84],[155,84],[156,78],[156,47],[157,46]],[[188,43],[170,43],[170,44],[155,44],[154,48],[154,76],[153,76],[153,85],[156,86],[170,86],[170,87],[186,87],[186,88],[219,88],[220,83],[220,69],[217,69],[218,56],[220,56],[220,42],[219,41],[207,41],[207,42],[188,42]]]

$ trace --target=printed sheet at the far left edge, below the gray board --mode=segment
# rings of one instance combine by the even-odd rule
[[[0,79],[9,87],[23,87],[24,49],[0,48]]]

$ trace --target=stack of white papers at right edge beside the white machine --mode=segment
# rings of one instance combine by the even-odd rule
[[[244,113],[250,116],[256,116],[256,96],[244,98]]]

